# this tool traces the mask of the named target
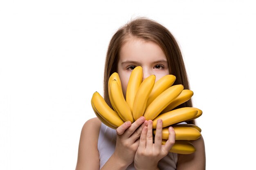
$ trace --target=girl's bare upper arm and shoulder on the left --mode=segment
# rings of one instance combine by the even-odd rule
[[[101,121],[92,118],[83,125],[76,170],[99,170],[99,152],[97,149]]]

